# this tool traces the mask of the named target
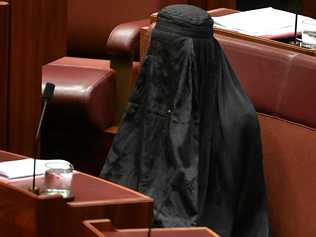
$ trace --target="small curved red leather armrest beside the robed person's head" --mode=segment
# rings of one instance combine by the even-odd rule
[[[106,43],[107,53],[111,56],[138,58],[140,28],[149,24],[149,19],[143,19],[116,26]]]

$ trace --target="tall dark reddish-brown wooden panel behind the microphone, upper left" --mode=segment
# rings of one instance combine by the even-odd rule
[[[41,106],[42,64],[66,52],[64,0],[9,0],[7,149],[33,155]]]

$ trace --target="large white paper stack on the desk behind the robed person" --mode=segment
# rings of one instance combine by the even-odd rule
[[[312,18],[299,15],[297,32],[302,31],[301,25],[303,19]],[[284,34],[294,35],[295,14],[272,7],[213,17],[213,20],[215,27],[247,35],[270,36],[269,38]]]

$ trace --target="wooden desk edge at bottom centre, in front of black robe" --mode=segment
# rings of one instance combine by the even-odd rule
[[[84,237],[146,237],[148,229],[125,229],[114,228],[110,220],[86,220]],[[151,237],[220,237],[206,227],[186,228],[153,228],[150,230]]]

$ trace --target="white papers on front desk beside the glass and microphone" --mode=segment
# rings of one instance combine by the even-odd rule
[[[47,170],[46,163],[54,161],[63,161],[64,160],[36,160],[36,171],[35,175],[44,174]],[[13,161],[3,161],[0,162],[0,175],[8,179],[17,179],[30,177],[33,175],[33,159],[22,159],[22,160],[13,160]]]

